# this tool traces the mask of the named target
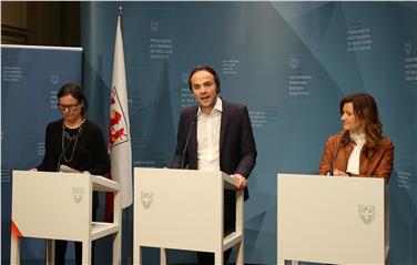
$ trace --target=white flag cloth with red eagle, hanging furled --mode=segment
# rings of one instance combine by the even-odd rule
[[[128,110],[121,17],[115,32],[113,80],[110,101],[109,150],[111,179],[121,186],[122,208],[132,204],[132,147]]]

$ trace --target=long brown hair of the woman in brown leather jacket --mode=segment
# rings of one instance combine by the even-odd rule
[[[366,156],[372,156],[380,145],[383,137],[383,123],[379,121],[378,106],[374,98],[368,93],[349,94],[340,101],[340,115],[346,103],[353,104],[356,118],[364,125],[366,135],[364,152]]]

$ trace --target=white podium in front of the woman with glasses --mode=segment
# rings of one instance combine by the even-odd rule
[[[93,191],[114,193],[113,223],[92,222]],[[81,173],[13,171],[10,264],[20,264],[20,238],[47,239],[47,264],[54,264],[54,239],[82,242],[82,263],[91,244],[113,234],[113,264],[121,263],[119,184]]]

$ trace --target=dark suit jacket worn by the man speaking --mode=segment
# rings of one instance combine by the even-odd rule
[[[226,174],[248,177],[256,163],[256,145],[245,105],[222,99],[223,112],[220,130],[220,169]],[[185,108],[181,112],[177,142],[171,167],[197,170],[197,121],[199,106]],[[184,152],[185,142],[189,143]],[[184,160],[183,160],[184,156]],[[248,197],[245,190],[245,197]]]

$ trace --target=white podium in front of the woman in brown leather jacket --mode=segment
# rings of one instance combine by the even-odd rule
[[[277,177],[278,264],[389,264],[389,201],[383,179]]]

